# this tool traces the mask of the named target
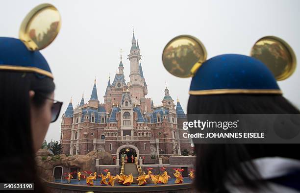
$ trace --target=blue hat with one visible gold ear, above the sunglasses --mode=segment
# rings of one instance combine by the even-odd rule
[[[53,5],[45,3],[33,8],[21,24],[19,39],[0,37],[0,71],[34,72],[53,79],[39,50],[51,44],[60,26],[60,14]]]

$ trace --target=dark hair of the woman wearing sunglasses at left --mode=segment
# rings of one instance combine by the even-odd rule
[[[33,182],[34,192],[46,192],[35,167],[29,91],[35,91],[32,105],[40,107],[54,88],[48,77],[0,71],[0,182]]]

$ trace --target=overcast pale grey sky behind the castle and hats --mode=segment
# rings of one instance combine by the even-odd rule
[[[97,79],[98,97],[103,95],[108,74],[113,79],[123,52],[125,79],[130,65],[126,60],[134,25],[142,57],[148,97],[159,105],[165,81],[170,95],[179,97],[186,112],[191,79],[177,78],[162,65],[166,43],[181,34],[196,36],[208,58],[224,53],[249,55],[256,40],[275,35],[290,44],[300,58],[299,0],[1,0],[0,36],[18,38],[25,15],[40,3],[51,3],[62,17],[55,41],[41,52],[50,64],[56,84],[55,99],[63,101],[62,113],[71,96],[73,105],[82,92],[88,101]],[[279,86],[284,96],[300,107],[300,68]],[[60,122],[50,124],[46,140],[59,140]]]

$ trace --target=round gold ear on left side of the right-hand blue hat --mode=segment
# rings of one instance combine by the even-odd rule
[[[178,77],[191,77],[207,57],[206,49],[197,38],[180,35],[173,38],[164,48],[164,67]]]

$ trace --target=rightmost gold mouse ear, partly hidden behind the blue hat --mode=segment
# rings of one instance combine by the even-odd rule
[[[284,80],[296,70],[297,62],[293,49],[275,36],[259,39],[252,47],[250,55],[267,65],[276,80]]]

